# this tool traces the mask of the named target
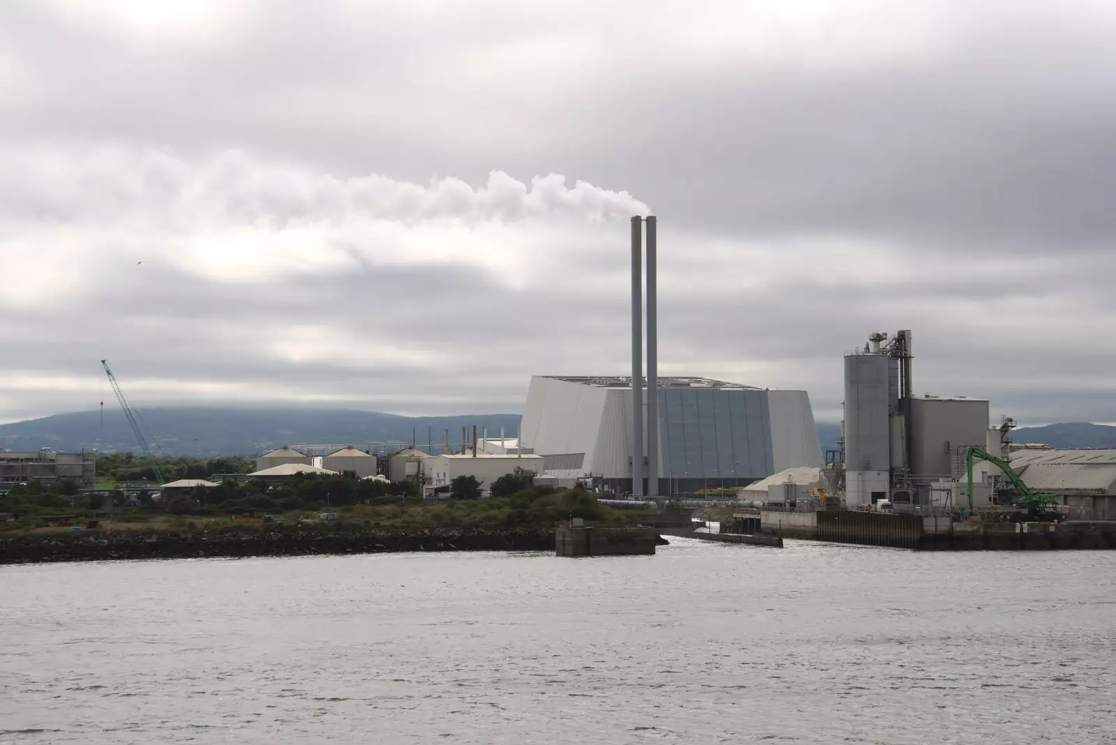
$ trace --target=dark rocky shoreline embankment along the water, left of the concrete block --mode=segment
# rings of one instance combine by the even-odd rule
[[[0,536],[0,564],[302,557],[397,551],[554,551],[554,528],[365,531],[75,531]]]

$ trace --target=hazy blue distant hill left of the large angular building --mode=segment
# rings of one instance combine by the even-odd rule
[[[450,445],[460,446],[461,427],[471,428],[475,424],[478,432],[487,427],[490,437],[498,437],[500,427],[504,427],[507,435],[514,437],[520,422],[518,414],[406,417],[379,412],[310,407],[152,407],[143,409],[141,416],[151,435],[153,449],[166,457],[251,456],[287,444],[402,445],[410,444],[412,436],[422,446],[429,435],[436,448],[444,439],[445,429],[450,430]],[[99,412],[57,414],[0,425],[0,447],[13,451],[52,447],[59,452],[83,448],[97,448],[103,453],[140,452],[124,414],[107,405],[104,427]]]

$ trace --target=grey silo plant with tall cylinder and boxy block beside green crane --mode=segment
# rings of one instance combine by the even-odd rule
[[[873,333],[845,356],[845,501],[940,502],[935,493],[965,473],[969,447],[985,448],[984,399],[914,395],[911,331]],[[977,491],[975,488],[973,490]]]

